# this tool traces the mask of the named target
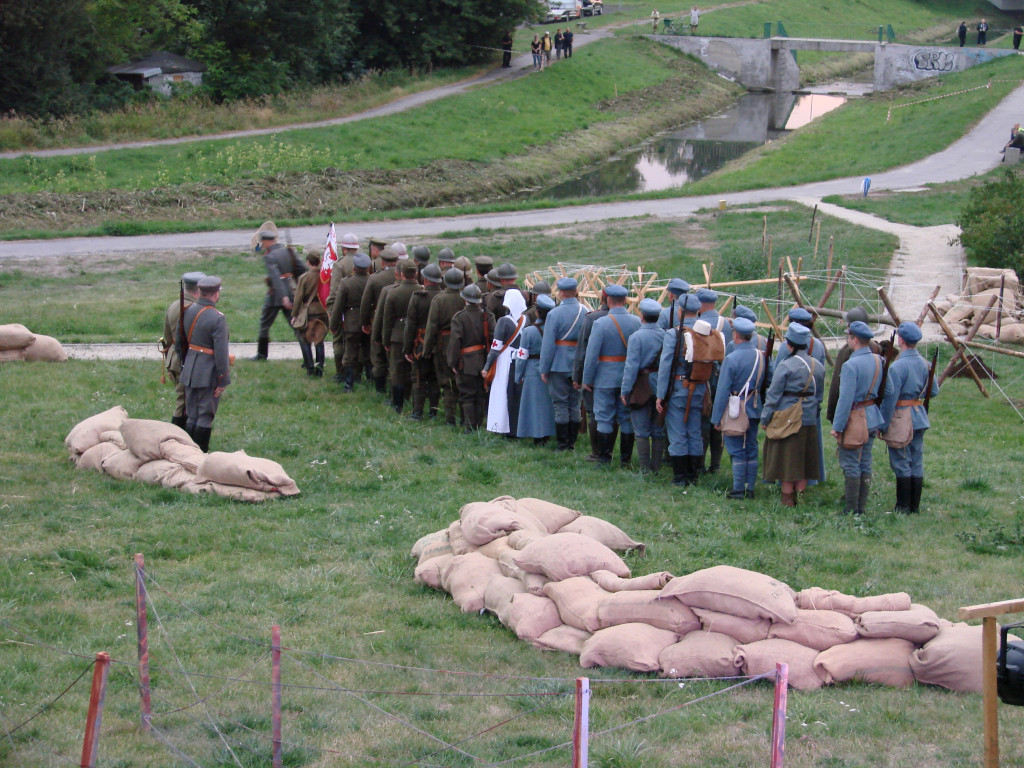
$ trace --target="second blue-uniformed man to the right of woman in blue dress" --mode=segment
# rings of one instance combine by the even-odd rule
[[[640,318],[626,309],[629,296],[623,286],[611,284],[604,289],[608,297],[608,314],[594,324],[587,344],[587,359],[583,369],[583,386],[594,392],[594,418],[597,419],[599,449],[597,461],[608,464],[614,446],[612,429],[620,432],[618,459],[628,467],[633,458],[633,422],[630,411],[622,401],[623,369],[629,338],[640,328]]]

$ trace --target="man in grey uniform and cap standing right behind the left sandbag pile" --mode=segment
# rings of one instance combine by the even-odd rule
[[[198,287],[199,298],[185,310],[184,337],[178,334],[175,343],[178,355],[184,358],[181,383],[185,387],[185,431],[207,452],[213,419],[220,395],[231,383],[231,371],[227,318],[216,308],[220,278],[201,278]]]

